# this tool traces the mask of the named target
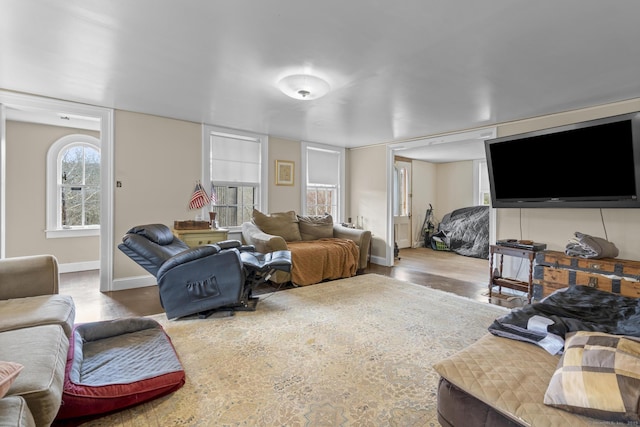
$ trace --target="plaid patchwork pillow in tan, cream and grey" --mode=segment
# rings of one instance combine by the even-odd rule
[[[607,421],[639,422],[640,338],[567,334],[544,403]]]

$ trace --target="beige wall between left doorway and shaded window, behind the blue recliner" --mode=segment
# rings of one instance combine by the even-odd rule
[[[119,279],[147,275],[117,248],[129,228],[173,226],[200,214],[188,204],[202,176],[202,126],[126,111],[116,111],[114,123],[114,176],[122,183],[114,195],[113,277]]]

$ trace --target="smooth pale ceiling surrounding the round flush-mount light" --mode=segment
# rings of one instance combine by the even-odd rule
[[[2,0],[0,88],[359,147],[638,98],[638,16],[637,0]],[[276,88],[302,72],[329,94]]]

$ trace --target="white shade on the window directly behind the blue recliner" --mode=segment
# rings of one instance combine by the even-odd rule
[[[260,142],[211,135],[211,180],[260,182]]]

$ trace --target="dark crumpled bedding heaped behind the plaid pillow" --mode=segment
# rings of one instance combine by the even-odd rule
[[[546,332],[528,329],[529,320],[534,316],[553,323]],[[640,337],[640,299],[587,286],[571,286],[540,302],[514,309],[489,326],[493,335],[534,344],[540,344],[548,334],[564,338],[574,331]]]

